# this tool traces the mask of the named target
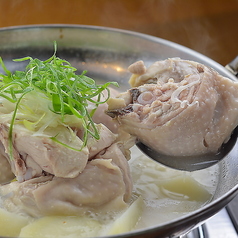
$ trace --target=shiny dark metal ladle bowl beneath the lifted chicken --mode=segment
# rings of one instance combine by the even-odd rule
[[[224,143],[217,153],[203,154],[198,156],[170,156],[161,154],[142,142],[137,142],[137,147],[151,159],[170,168],[184,171],[196,171],[211,167],[223,160],[236,144],[238,127],[234,129],[228,142]]]

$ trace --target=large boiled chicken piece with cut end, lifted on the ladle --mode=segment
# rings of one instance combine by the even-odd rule
[[[212,68],[171,58],[129,71],[132,88],[108,101],[107,114],[158,152],[216,153],[238,124],[238,82]]]

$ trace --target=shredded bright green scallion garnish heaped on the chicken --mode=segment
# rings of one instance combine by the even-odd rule
[[[108,86],[111,84],[118,86],[118,84],[107,82],[97,85],[93,79],[86,76],[86,71],[77,75],[76,68],[56,56],[56,43],[54,46],[53,56],[45,61],[31,57],[14,60],[16,62],[29,61],[24,71],[10,72],[0,57],[0,64],[5,72],[5,74],[0,74],[0,97],[15,104],[10,122],[10,142],[12,142],[13,125],[16,121],[17,111],[20,109],[20,103],[30,92],[43,94],[51,102],[48,110],[61,115],[62,123],[67,115],[74,115],[80,119],[84,128],[83,146],[87,144],[89,134],[95,139],[99,139],[92,115],[97,106],[105,103],[109,98]],[[108,92],[108,98],[100,101],[101,94],[105,90]],[[94,109],[91,112],[87,108],[89,102],[94,104]],[[54,138],[54,141],[57,139]],[[12,143],[9,144],[12,146]],[[12,151],[11,147],[10,151]]]

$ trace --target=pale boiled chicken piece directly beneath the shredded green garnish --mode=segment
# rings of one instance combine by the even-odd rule
[[[58,126],[45,130],[44,135],[34,136],[34,132],[27,130],[24,126],[15,125],[12,143],[13,158],[10,158],[8,132],[8,126],[1,124],[0,141],[4,147],[2,154],[8,158],[18,181],[28,180],[45,173],[72,178],[81,173],[87,164],[88,148],[82,148],[81,139],[67,127]],[[52,140],[52,137],[60,143]]]

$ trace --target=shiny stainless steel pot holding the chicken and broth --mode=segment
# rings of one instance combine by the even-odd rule
[[[25,56],[46,59],[53,53],[68,60],[79,71],[98,80],[118,81],[128,87],[127,67],[143,60],[150,65],[169,57],[194,60],[237,80],[225,67],[181,45],[129,31],[79,25],[37,25],[2,28],[0,56],[8,69],[19,70],[14,58]],[[20,67],[24,67],[24,63]],[[179,219],[116,237],[177,237],[191,230],[226,206],[238,193],[238,144],[219,164],[219,184],[211,202]]]

